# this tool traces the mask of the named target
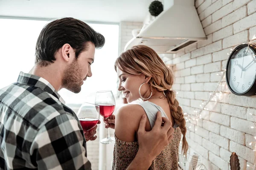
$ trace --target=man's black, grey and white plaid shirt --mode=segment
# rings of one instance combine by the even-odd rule
[[[0,89],[0,169],[90,170],[76,114],[47,80],[20,72]]]

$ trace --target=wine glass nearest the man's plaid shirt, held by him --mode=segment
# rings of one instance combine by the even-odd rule
[[[77,117],[85,133],[99,122],[99,106],[84,102],[78,110]]]

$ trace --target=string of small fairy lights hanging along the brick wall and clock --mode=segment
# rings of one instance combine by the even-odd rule
[[[253,39],[253,40],[256,40]],[[253,40],[251,40],[250,42],[244,42],[243,44],[247,44],[247,49],[246,49],[246,52],[249,51],[249,45],[250,44],[253,44],[253,45],[256,45],[255,42],[253,42]],[[232,51],[235,49],[234,48],[231,48],[230,49],[230,53],[227,53],[227,55],[229,56]],[[252,59],[256,62],[256,55],[253,54],[253,52],[251,52],[251,57]],[[196,121],[198,122],[199,119],[202,119],[202,115],[201,113],[206,110],[206,111],[209,111],[209,109],[207,108],[207,105],[209,104],[210,101],[215,101],[217,102],[217,99],[221,99],[223,93],[222,93],[222,90],[221,90],[221,87],[225,86],[224,84],[222,84],[222,80],[223,78],[226,76],[226,69],[224,71],[221,72],[221,74],[217,74],[218,76],[220,76],[220,79],[217,83],[217,87],[215,88],[214,91],[210,92],[209,93],[209,99],[207,101],[204,101],[202,102],[199,106],[200,106],[200,109],[199,111],[197,111],[196,109],[194,110],[194,113],[190,113],[190,114],[187,114],[187,113],[184,113],[184,117],[186,119],[186,122],[192,122],[192,121]],[[178,94],[178,93],[177,93]],[[252,113],[249,113],[250,115],[253,115]],[[189,126],[189,128],[191,128],[191,126]],[[250,128],[256,128],[256,120],[254,121],[254,125],[251,126]],[[197,131],[197,129],[195,128],[195,131]],[[249,145],[254,145],[254,154],[255,154],[255,158],[256,158],[256,136],[254,136],[254,141],[251,141],[249,143]],[[254,164],[253,166],[250,166],[250,164],[247,163],[247,169],[252,169],[252,170],[256,170],[256,160],[254,161]]]

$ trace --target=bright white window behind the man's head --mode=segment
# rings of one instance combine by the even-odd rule
[[[0,19],[0,88],[17,81],[20,71],[28,73],[35,62],[35,45],[47,21]],[[96,91],[112,90],[116,94],[114,62],[118,57],[119,25],[88,23],[105,36],[105,45],[96,50],[93,76],[87,78],[79,94],[61,89],[66,104],[90,101]]]

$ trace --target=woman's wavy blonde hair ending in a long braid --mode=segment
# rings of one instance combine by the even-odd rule
[[[186,142],[186,121],[182,108],[179,106],[179,102],[175,99],[175,91],[170,90],[175,77],[172,71],[166,67],[162,59],[157,53],[148,46],[137,45],[131,49],[123,52],[115,62],[115,70],[119,68],[126,74],[139,75],[145,74],[147,77],[151,77],[148,84],[151,88],[155,88],[157,91],[164,92],[169,102],[170,111],[177,125],[179,125],[182,139],[182,152],[186,155],[188,150],[188,143]],[[133,72],[131,72],[133,71]],[[136,74],[134,74],[134,72]]]

